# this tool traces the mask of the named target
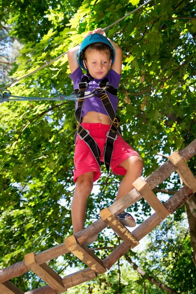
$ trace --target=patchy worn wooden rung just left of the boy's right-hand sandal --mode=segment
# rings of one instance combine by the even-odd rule
[[[134,248],[139,244],[138,240],[125,228],[121,221],[113,216],[107,207],[100,211],[100,217],[130,248]]]

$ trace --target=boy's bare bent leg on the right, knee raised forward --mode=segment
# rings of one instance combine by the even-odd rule
[[[131,191],[134,187],[132,183],[141,176],[143,170],[143,161],[141,157],[137,155],[133,155],[126,160],[124,160],[121,164],[126,170],[126,173],[123,177],[123,180],[119,186],[119,190],[116,196],[115,201],[119,200],[121,197],[126,195],[129,191]],[[127,217],[129,219],[133,219],[131,217]]]

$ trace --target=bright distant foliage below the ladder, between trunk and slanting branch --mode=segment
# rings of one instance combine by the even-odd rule
[[[196,291],[196,270],[190,259],[192,248],[187,217],[185,213],[182,216],[184,219],[180,221],[175,220],[175,215],[165,219],[149,233],[145,249],[136,250],[133,258],[155,279],[179,293],[188,294]]]

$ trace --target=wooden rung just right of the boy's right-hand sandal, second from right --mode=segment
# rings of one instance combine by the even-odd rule
[[[143,198],[145,198],[147,203],[154,209],[154,211],[159,215],[162,220],[169,216],[169,211],[152,192],[146,181],[139,177],[132,185],[143,196]]]

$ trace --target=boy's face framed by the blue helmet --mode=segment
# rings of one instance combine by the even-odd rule
[[[112,60],[110,57],[103,51],[98,51],[92,49],[89,52],[86,51],[86,64],[91,76],[97,79],[102,79],[107,75],[108,70],[111,66]],[[84,67],[86,68],[85,62]]]

